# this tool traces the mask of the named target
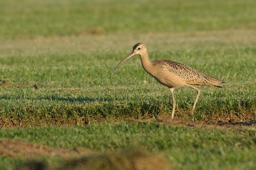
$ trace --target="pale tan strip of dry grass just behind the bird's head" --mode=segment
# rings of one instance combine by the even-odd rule
[[[234,36],[236,35],[236,36]],[[212,49],[214,43],[222,45],[253,45],[256,43],[255,31],[250,30],[225,30],[225,31],[191,31],[175,33],[145,33],[138,35],[111,35],[104,29],[95,27],[90,30],[78,31],[73,36],[36,36],[20,37],[10,40],[0,38],[1,56],[30,56],[36,54],[70,54],[90,52],[112,52],[119,49],[128,52],[134,45],[134,37],[143,40],[150,51],[173,49],[198,49],[204,43],[205,47]],[[100,43],[99,43],[100,42]],[[232,46],[233,45],[233,46]],[[128,48],[128,49],[127,49]],[[219,48],[218,45],[216,48]],[[4,68],[4,65],[2,66]]]

